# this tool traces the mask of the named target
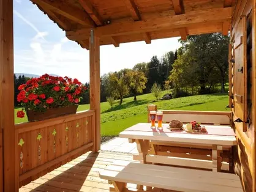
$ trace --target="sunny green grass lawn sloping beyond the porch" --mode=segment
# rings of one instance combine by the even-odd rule
[[[163,93],[164,95],[164,93]],[[140,95],[137,101],[133,97],[125,98],[122,105],[115,103],[113,108],[107,102],[101,103],[101,133],[102,136],[118,135],[127,127],[138,122],[147,121],[147,106],[151,103],[158,109],[194,110],[194,111],[228,111],[227,94],[195,95],[190,97],[175,98],[171,100],[154,101],[152,94]],[[78,111],[89,109],[89,105],[80,105]],[[15,114],[18,109],[15,109]],[[15,116],[15,124],[26,122]]]

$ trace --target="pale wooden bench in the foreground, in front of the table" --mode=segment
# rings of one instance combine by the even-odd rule
[[[137,191],[243,191],[238,175],[195,169],[174,168],[154,164],[129,163],[110,165],[100,172],[101,179],[113,183],[110,191],[134,191],[127,183],[136,184]]]

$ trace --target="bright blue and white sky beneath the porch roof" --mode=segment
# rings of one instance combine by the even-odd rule
[[[14,71],[15,73],[54,73],[89,81],[89,51],[68,40],[47,15],[29,0],[14,0]],[[179,38],[123,43],[100,47],[100,75],[132,68],[151,57],[161,57],[180,46]]]

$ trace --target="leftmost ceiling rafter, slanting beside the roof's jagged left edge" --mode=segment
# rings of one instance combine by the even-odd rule
[[[82,24],[83,26],[93,27],[94,23],[91,18],[83,11],[75,7],[67,6],[57,1],[50,0],[30,0],[36,4],[39,4],[41,7],[47,7],[47,9],[52,12],[59,13],[64,17],[69,18],[72,21]]]

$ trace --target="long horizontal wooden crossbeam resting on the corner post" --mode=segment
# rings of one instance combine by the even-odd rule
[[[198,10],[188,12],[181,15],[160,16],[152,20],[136,21],[121,24],[109,24],[107,26],[98,27],[95,29],[97,35],[117,36],[136,34],[149,31],[161,31],[164,29],[184,28],[190,24],[208,24],[230,20],[232,18],[232,7]],[[78,29],[76,31],[67,31],[66,36],[71,40],[83,37],[89,37],[89,29]]]

